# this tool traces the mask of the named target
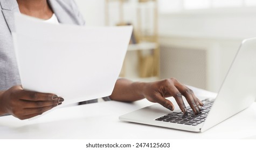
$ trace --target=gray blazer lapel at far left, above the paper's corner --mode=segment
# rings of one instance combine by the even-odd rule
[[[11,32],[15,32],[14,13],[19,12],[16,0],[0,0],[2,12]]]

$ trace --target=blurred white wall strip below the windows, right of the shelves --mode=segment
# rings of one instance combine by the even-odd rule
[[[244,39],[256,36],[255,9],[217,9],[161,14],[160,35]]]

